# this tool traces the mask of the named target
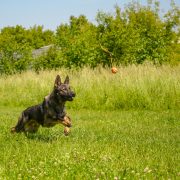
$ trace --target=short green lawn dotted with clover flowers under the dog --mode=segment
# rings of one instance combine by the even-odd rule
[[[1,107],[2,179],[177,179],[180,112],[69,110],[73,127],[9,136],[22,108]]]

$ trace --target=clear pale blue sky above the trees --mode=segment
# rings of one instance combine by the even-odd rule
[[[94,24],[98,9],[104,12],[114,12],[117,3],[123,8],[132,0],[0,0],[0,29],[7,26],[44,25],[44,30],[55,31],[61,23],[69,23],[71,15],[78,17],[84,14]],[[146,0],[139,0],[147,5]],[[154,0],[153,0],[154,2]],[[166,12],[170,8],[170,0],[160,0],[160,7]],[[174,0],[180,7],[180,0]]]

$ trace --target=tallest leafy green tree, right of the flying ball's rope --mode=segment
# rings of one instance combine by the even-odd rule
[[[147,59],[155,64],[166,62],[174,24],[166,30],[166,23],[160,19],[159,4],[152,8],[150,1],[147,7],[133,2],[122,13],[118,5],[115,9],[115,15],[99,11],[97,16],[100,42],[115,54],[115,61],[121,64],[141,64]]]

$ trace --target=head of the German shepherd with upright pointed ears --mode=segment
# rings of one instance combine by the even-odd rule
[[[64,83],[61,83],[61,78],[59,75],[56,76],[54,92],[57,98],[63,101],[73,101],[73,97],[76,95],[76,93],[70,89],[68,75],[66,76]]]

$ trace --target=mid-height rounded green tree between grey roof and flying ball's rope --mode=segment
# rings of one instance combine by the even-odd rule
[[[97,66],[100,57],[96,27],[84,15],[70,17],[70,25],[57,28],[56,45],[61,47],[65,67]]]

